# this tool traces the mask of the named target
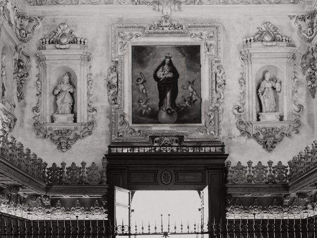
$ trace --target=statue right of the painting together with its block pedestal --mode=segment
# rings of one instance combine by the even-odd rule
[[[276,112],[274,91],[281,91],[281,82],[278,79],[270,80],[271,74],[267,71],[264,74],[264,80],[261,82],[258,95],[262,105],[262,113],[260,113],[260,120],[276,121],[279,120],[280,113]],[[266,118],[265,118],[266,117]]]

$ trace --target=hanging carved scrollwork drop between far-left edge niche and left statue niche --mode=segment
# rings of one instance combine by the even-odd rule
[[[13,77],[16,80],[16,94],[18,102],[24,100],[24,84],[29,77],[30,55],[25,53],[20,46],[16,46],[16,57],[14,59]]]

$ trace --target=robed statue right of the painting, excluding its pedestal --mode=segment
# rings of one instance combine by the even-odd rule
[[[262,113],[275,113],[275,98],[273,88],[277,92],[281,91],[281,83],[278,80],[270,80],[270,72],[264,74],[264,80],[261,82],[258,94],[262,105]]]

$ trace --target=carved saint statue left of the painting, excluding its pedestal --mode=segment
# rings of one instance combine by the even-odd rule
[[[69,83],[69,72],[65,72],[62,81],[53,92],[54,95],[57,95],[57,110],[54,114],[71,114],[71,107],[74,101],[70,94],[74,92],[75,87]]]

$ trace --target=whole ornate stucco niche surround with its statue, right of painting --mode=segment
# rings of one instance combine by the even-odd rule
[[[270,22],[243,43],[241,98],[233,113],[241,134],[271,152],[285,136],[299,133],[301,125],[304,107],[297,102],[298,77],[293,71],[296,48]]]

